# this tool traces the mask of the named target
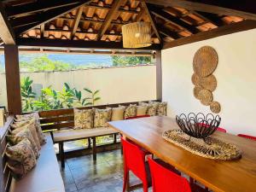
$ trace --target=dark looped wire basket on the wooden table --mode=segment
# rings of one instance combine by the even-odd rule
[[[217,130],[221,118],[218,115],[208,113],[184,113],[176,116],[179,128],[190,137],[201,138],[206,142],[206,138]]]

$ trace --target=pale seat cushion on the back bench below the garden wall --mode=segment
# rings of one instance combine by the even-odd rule
[[[87,137],[107,136],[113,133],[118,133],[118,131],[110,127],[99,127],[94,129],[81,129],[81,130],[69,129],[69,130],[54,131],[53,137],[54,137],[54,142],[59,143],[59,142],[82,139]]]

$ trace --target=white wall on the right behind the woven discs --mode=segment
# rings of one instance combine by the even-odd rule
[[[191,82],[193,57],[205,45],[218,52],[214,72],[218,86],[213,96],[222,107],[220,126],[234,134],[256,136],[256,29],[163,50],[163,100],[168,102],[168,115],[211,113],[195,99]]]

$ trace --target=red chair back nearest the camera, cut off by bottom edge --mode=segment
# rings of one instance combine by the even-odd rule
[[[152,177],[153,192],[191,192],[186,178],[160,166],[151,158],[148,158]]]

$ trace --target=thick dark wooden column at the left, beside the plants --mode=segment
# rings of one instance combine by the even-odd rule
[[[16,45],[4,45],[6,90],[8,99],[8,110],[10,114],[20,114],[20,67],[19,50]]]

